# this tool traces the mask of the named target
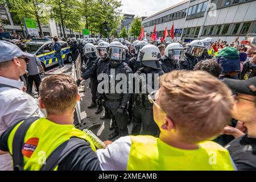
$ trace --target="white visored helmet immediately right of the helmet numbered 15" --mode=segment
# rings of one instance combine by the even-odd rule
[[[164,51],[164,56],[171,60],[184,60],[184,47],[180,43],[170,43]]]

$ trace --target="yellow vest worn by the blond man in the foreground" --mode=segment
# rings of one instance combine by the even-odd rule
[[[229,152],[214,142],[200,143],[197,150],[181,150],[169,146],[159,138],[137,136],[131,138],[127,170],[234,170]]]

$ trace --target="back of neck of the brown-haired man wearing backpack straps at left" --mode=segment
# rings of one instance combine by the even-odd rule
[[[73,125],[74,123],[73,114],[47,115],[46,118],[59,125]]]

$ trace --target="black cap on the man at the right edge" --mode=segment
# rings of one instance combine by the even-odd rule
[[[249,78],[248,80],[225,78],[224,83],[229,86],[233,93],[256,96],[256,77]]]

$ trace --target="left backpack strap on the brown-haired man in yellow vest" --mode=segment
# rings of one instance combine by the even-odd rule
[[[14,171],[23,171],[24,160],[22,155],[22,146],[24,143],[24,138],[27,133],[28,128],[38,120],[39,117],[27,118],[19,126],[13,138],[13,168]]]

